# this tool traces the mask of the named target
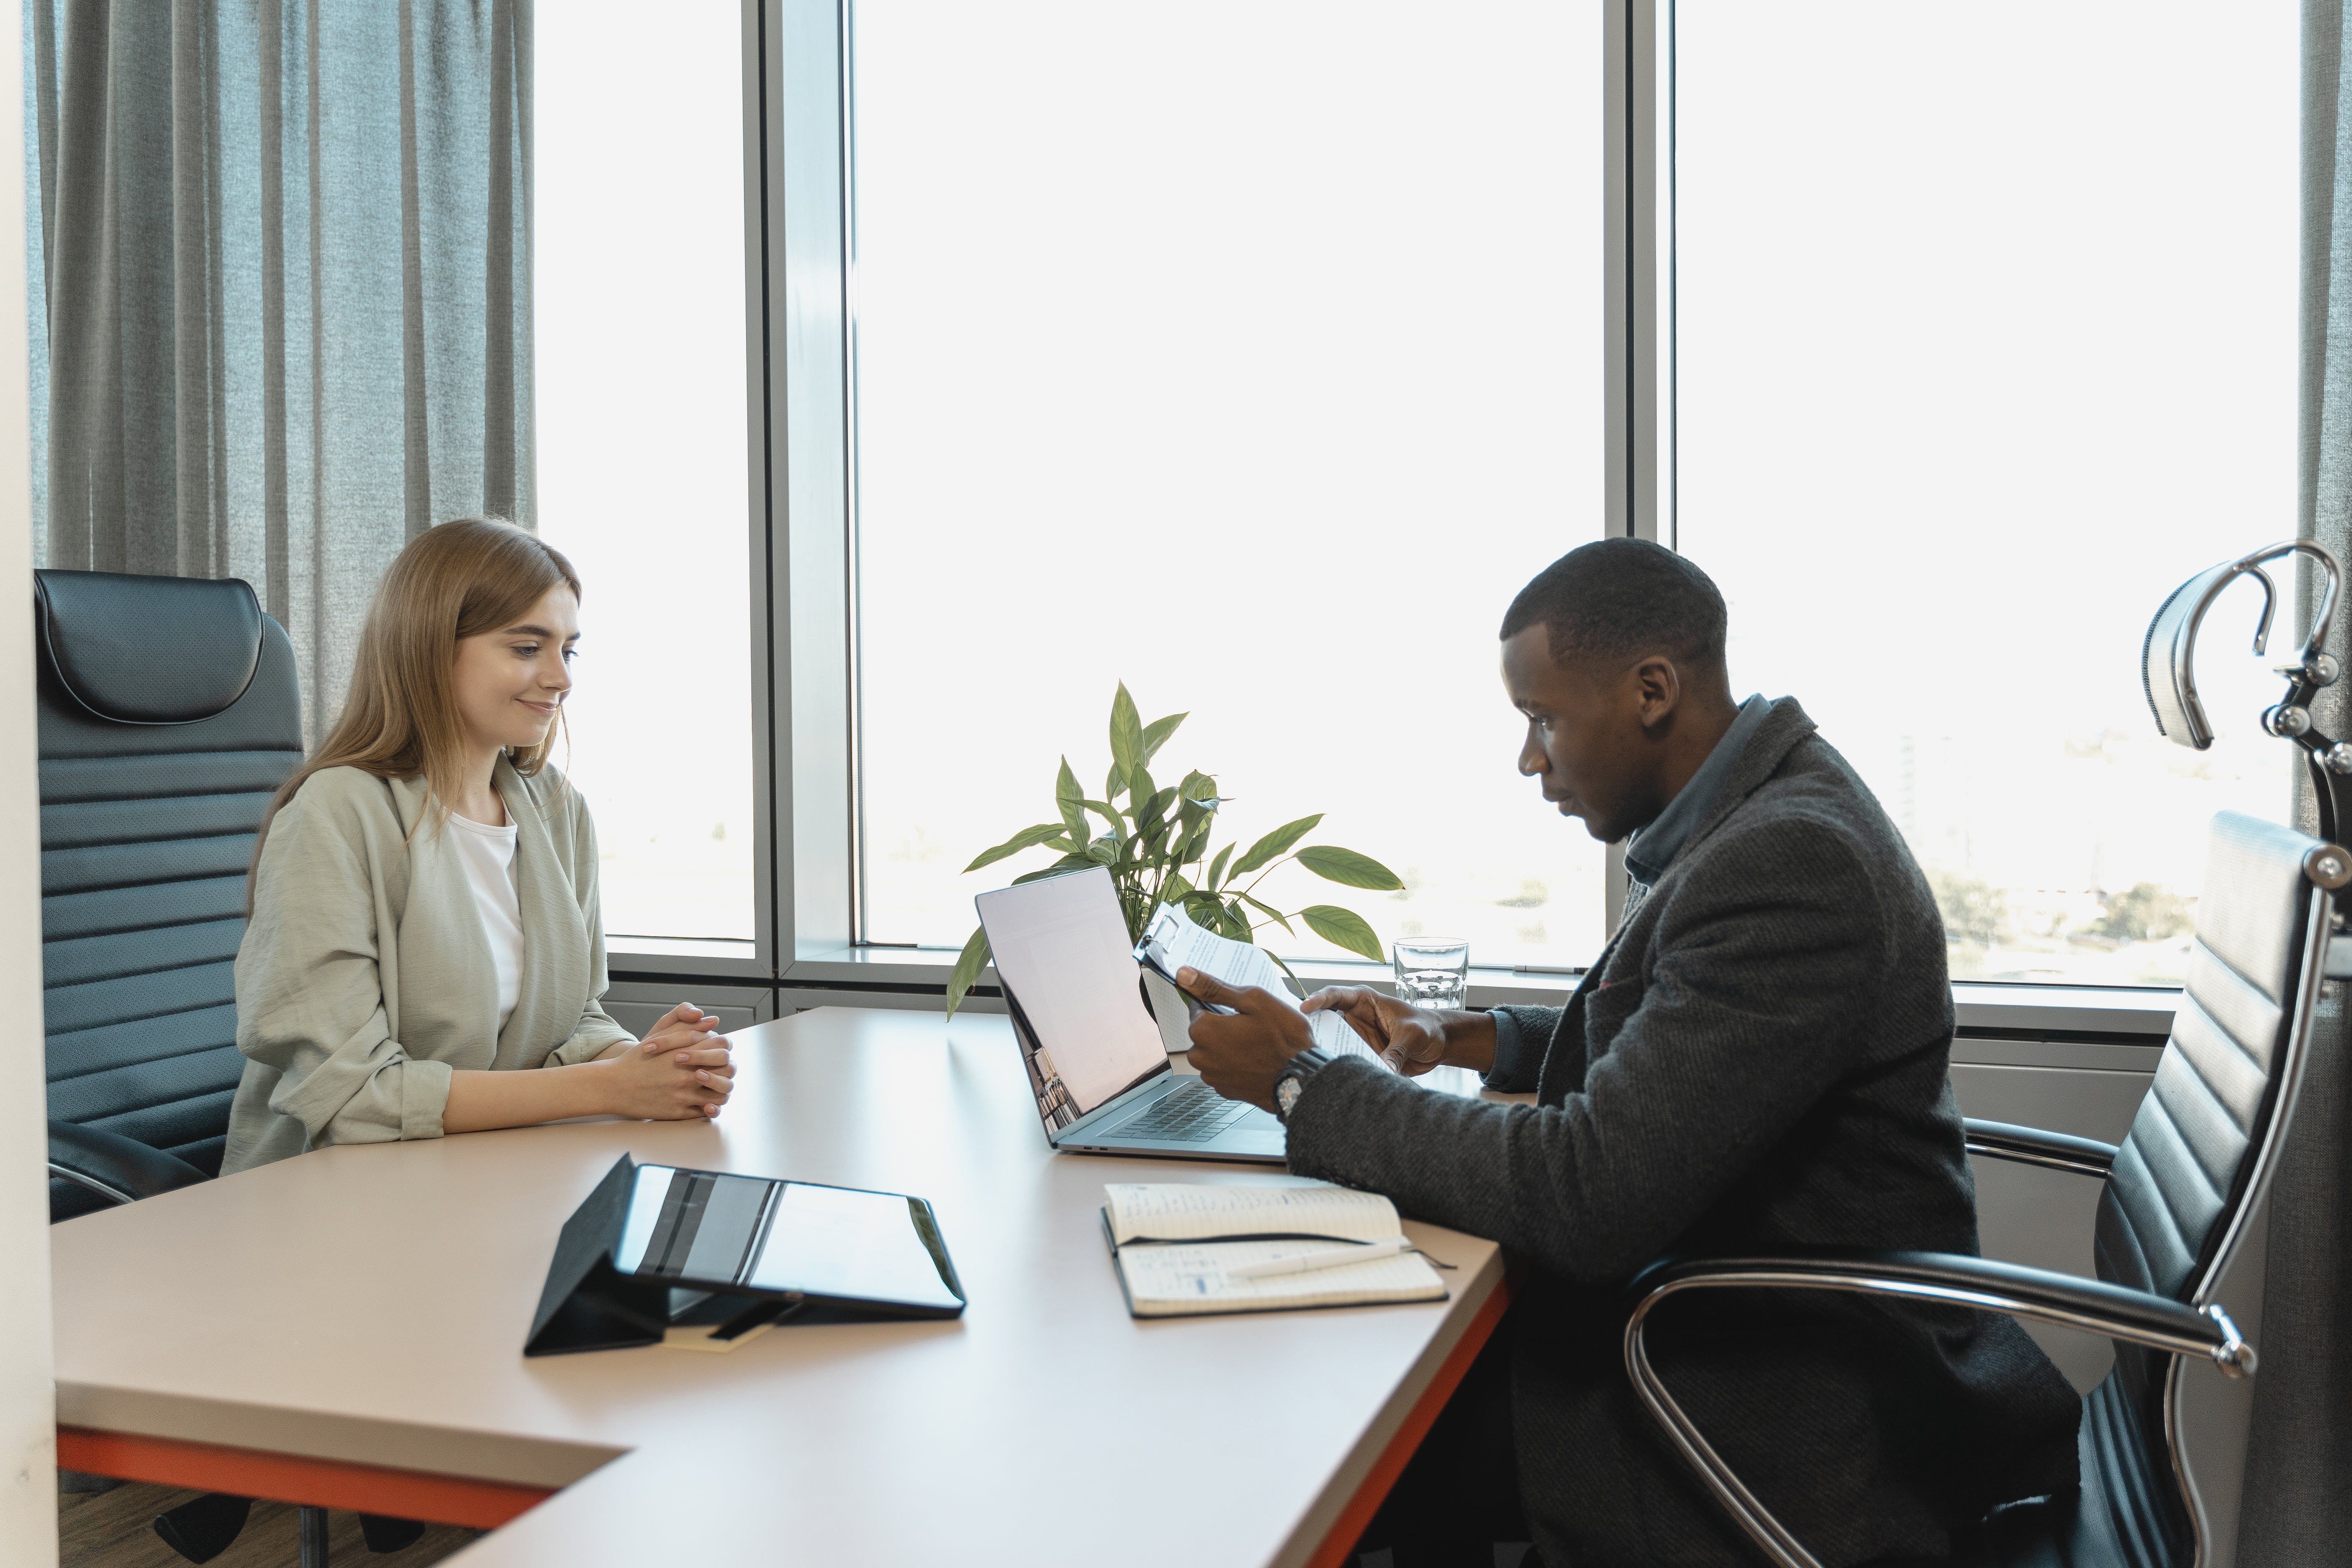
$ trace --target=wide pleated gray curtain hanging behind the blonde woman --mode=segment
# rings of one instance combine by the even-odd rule
[[[240,576],[310,733],[367,597],[532,498],[532,0],[28,0],[47,567]]]

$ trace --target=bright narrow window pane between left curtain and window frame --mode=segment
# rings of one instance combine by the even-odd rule
[[[604,931],[750,938],[741,16],[564,0],[534,66],[539,534],[586,588]]]

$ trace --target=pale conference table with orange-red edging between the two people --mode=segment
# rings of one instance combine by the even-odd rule
[[[1049,1152],[1004,1018],[731,1044],[713,1124],[341,1145],[52,1227],[59,1462],[494,1528],[466,1568],[1334,1568],[1508,1302],[1501,1248],[1406,1222],[1449,1300],[1138,1321],[1103,1182],[1296,1178]],[[924,1197],[969,1307],[524,1359],[623,1152]]]

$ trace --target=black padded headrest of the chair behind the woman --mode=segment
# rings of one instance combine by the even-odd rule
[[[35,571],[42,656],[75,703],[115,724],[195,724],[261,665],[261,604],[238,581]]]

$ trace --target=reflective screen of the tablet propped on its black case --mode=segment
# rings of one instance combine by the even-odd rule
[[[929,1208],[896,1192],[637,1166],[612,1260],[713,1291],[964,1305]]]

